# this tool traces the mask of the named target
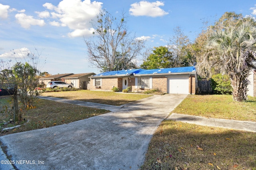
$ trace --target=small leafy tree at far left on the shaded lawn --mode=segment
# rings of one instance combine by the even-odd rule
[[[18,53],[13,52],[12,55],[16,61],[14,64],[12,61],[1,60],[0,71],[3,77],[3,79],[2,77],[1,79],[9,85],[16,84],[18,87],[19,100],[23,107],[26,109],[32,108],[32,103],[38,94],[35,92],[35,88],[38,86],[39,82],[41,53],[37,51],[36,55],[28,51],[26,55],[21,53],[20,56]],[[19,117],[21,117],[21,115]]]

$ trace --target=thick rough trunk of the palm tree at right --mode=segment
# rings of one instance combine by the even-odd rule
[[[241,75],[232,75],[231,76],[231,86],[233,88],[233,100],[236,102],[243,102],[247,99],[246,91],[248,80],[247,77]]]

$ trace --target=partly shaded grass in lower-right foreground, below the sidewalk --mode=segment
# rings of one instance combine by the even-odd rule
[[[142,170],[256,170],[256,133],[163,121]]]

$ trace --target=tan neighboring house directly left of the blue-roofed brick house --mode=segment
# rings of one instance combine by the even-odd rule
[[[62,77],[64,81],[68,84],[73,84],[75,88],[89,90],[90,89],[90,78],[89,76],[94,75],[95,73],[81,73],[81,74],[72,74],[69,76]]]

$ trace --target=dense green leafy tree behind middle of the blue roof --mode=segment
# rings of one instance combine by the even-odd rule
[[[167,47],[154,47],[153,53],[140,66],[144,69],[170,68],[173,65],[172,53]]]

